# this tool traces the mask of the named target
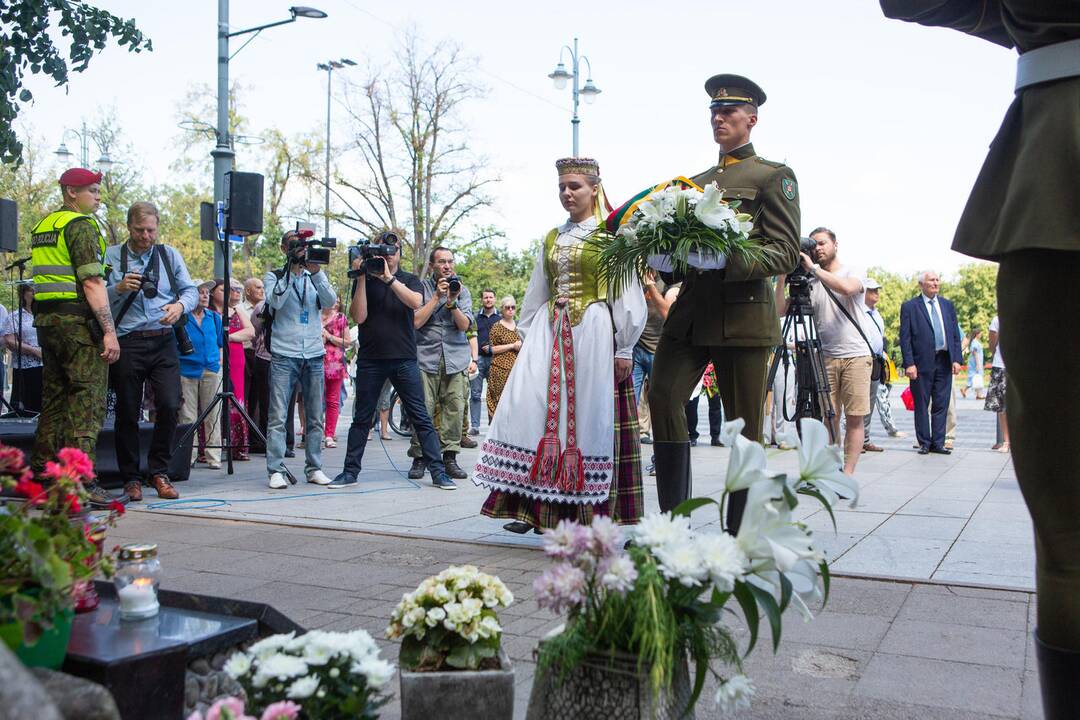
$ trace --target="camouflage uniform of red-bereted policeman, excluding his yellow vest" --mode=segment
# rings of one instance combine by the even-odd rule
[[[30,465],[37,473],[66,447],[79,448],[93,461],[97,434],[105,421],[109,366],[102,357],[102,334],[82,289],[82,282],[87,277],[105,277],[99,237],[91,222],[80,220],[67,227],[66,236],[79,299],[66,303],[35,303],[33,326],[38,328],[44,366],[41,416],[30,456]],[[84,316],[71,314],[57,310],[57,304],[68,308],[80,304],[86,313]]]

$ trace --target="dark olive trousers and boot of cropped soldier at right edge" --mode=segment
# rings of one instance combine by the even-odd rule
[[[1080,252],[1023,250],[998,269],[1013,467],[1035,526],[1036,653],[1048,720],[1080,717]],[[1064,392],[1063,392],[1064,391]]]

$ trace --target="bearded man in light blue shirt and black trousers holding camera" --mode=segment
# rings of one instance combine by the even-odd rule
[[[177,352],[191,353],[187,313],[199,304],[199,290],[179,252],[158,243],[158,208],[147,202],[127,209],[127,242],[105,252],[109,307],[120,340],[120,359],[109,367],[117,394],[117,464],[124,493],[143,499],[138,421],[143,385],[153,390],[156,419],[147,456],[150,485],[159,498],[179,498],[168,479],[173,438],[180,410]]]

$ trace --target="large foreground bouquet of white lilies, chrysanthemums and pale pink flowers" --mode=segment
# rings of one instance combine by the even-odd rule
[[[696,498],[673,513],[647,516],[631,531],[627,549],[606,518],[591,528],[564,521],[546,531],[544,552],[559,563],[537,579],[537,602],[568,617],[564,631],[541,646],[541,669],[565,678],[588,655],[618,651],[636,656],[653,692],[661,693],[672,690],[675,665],[689,655],[694,682],[686,710],[708,674],[719,680],[715,699],[723,711],[747,707],[753,683],[742,674],[741,657],[753,650],[761,616],[775,650],[784,611],[795,607],[809,620],[808,602],[828,596],[825,556],[810,529],[792,517],[799,495],[816,499],[832,516],[839,495],[854,504],[859,494],[855,480],[839,470],[842,457],[828,445],[825,426],[811,419],[801,426],[801,440],[787,438],[798,446],[800,467],[789,476],[766,467],[765,448],[740,434],[742,420],[727,423],[723,439],[731,454],[719,502]],[[737,490],[748,491],[737,535],[690,528],[690,513],[711,504],[723,522]],[[750,629],[742,654],[721,623],[732,599]]]

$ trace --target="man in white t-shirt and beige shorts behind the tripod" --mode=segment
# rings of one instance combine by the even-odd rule
[[[863,451],[863,418],[870,411],[870,371],[874,362],[867,343],[866,307],[863,304],[863,272],[840,263],[836,256],[836,233],[818,228],[810,233],[815,258],[800,253],[802,267],[812,275],[810,302],[814,324],[825,355],[829,395],[833,404],[833,437],[840,437],[840,411],[843,411],[843,472],[851,475]],[[816,261],[815,261],[816,260]],[[777,304],[786,312],[786,277],[777,282]],[[829,297],[832,296],[832,297]],[[842,310],[841,310],[842,308]],[[856,326],[858,324],[858,326]]]

